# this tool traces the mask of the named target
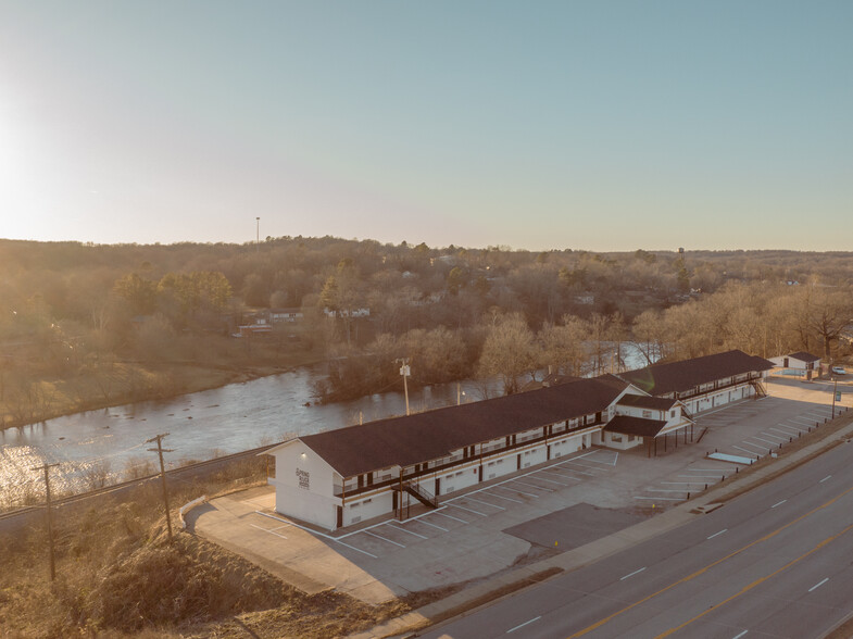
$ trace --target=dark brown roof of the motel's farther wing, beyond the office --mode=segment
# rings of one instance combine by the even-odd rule
[[[682,392],[701,384],[743,373],[769,371],[773,367],[774,364],[764,358],[735,350],[669,364],[653,364],[645,368],[619,373],[619,377],[650,394],[661,396]]]

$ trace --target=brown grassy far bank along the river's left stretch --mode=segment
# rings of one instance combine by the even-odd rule
[[[25,390],[0,393],[0,430],[96,411],[221,388],[278,375],[323,361],[317,351],[271,358],[259,353],[225,362],[110,362],[70,377],[34,378]]]

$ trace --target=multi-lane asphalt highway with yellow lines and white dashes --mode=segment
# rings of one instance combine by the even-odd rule
[[[853,613],[853,443],[430,638],[821,637]]]

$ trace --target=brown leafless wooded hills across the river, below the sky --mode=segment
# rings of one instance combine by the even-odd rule
[[[853,253],[516,251],[333,237],[0,241],[0,404],[20,425],[326,361],[323,399],[724,349],[850,352]],[[298,311],[273,323],[269,309]],[[241,325],[268,330],[233,337]]]

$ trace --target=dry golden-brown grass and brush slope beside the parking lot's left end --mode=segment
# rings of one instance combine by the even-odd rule
[[[172,503],[259,483],[242,462],[203,481],[173,483]],[[176,517],[173,516],[173,524]],[[54,515],[57,580],[47,534],[0,535],[0,635],[52,637],[338,637],[404,614],[448,591],[371,606],[327,591],[308,596],[186,532],[168,543],[155,485]]]

